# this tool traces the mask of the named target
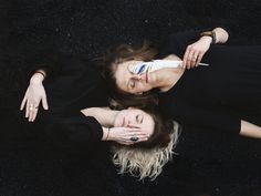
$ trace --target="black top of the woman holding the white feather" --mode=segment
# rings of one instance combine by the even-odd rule
[[[161,56],[182,59],[200,32],[171,34]],[[261,124],[261,47],[211,45],[201,62],[210,65],[186,70],[160,93],[161,110],[181,125],[225,133],[238,134],[241,120]]]

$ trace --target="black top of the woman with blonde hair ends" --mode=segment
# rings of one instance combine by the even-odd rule
[[[43,134],[60,146],[101,141],[103,130],[92,116],[80,110],[107,106],[104,82],[92,62],[80,56],[61,56],[60,72],[44,83],[49,111],[40,111],[36,122]]]

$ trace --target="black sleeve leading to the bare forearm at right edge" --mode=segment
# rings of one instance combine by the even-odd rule
[[[181,125],[189,125],[203,131],[222,132],[238,135],[241,130],[241,118],[229,112],[219,110],[198,109],[195,106],[179,105],[177,115],[173,116]]]

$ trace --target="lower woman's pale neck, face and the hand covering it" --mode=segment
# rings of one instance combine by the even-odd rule
[[[119,144],[132,145],[147,141],[154,133],[153,117],[142,110],[130,107],[116,111],[107,107],[90,107],[81,112],[86,116],[94,116],[103,126],[102,141],[115,141]],[[129,140],[134,135],[138,137],[137,142]]]

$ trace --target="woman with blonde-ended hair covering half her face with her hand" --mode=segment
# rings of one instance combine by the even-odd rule
[[[113,162],[121,174],[129,172],[140,179],[155,179],[173,157],[177,123],[161,117],[154,107],[105,107],[106,87],[88,63],[80,56],[61,56],[54,64],[60,69],[50,78],[51,60],[35,72],[32,66],[21,110],[27,105],[25,117],[39,127],[41,137],[58,147],[84,152],[86,147],[95,148],[96,142],[114,142]],[[46,100],[49,109],[35,107],[41,101],[44,106]]]

